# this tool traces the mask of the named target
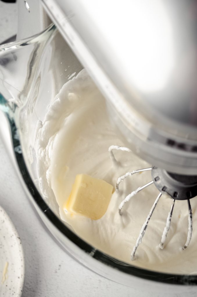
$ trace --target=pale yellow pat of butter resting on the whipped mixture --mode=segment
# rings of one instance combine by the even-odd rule
[[[106,213],[113,192],[113,186],[106,181],[77,174],[64,208],[71,213],[98,220]]]

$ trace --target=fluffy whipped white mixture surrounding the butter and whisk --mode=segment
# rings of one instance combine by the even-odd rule
[[[114,185],[127,171],[150,167],[131,152],[114,151],[118,165],[110,159],[111,145],[129,146],[107,113],[105,99],[85,70],[69,80],[49,106],[45,121],[37,131],[37,160],[40,188],[51,208],[59,206],[60,217],[76,234],[101,251],[132,265],[178,274],[197,274],[197,199],[190,200],[193,211],[193,235],[187,239],[188,207],[176,201],[165,248],[159,249],[172,199],[160,198],[137,249],[130,260],[141,227],[158,195],[154,185],[137,193],[118,214],[121,201],[133,190],[151,181],[150,171],[136,173],[112,195],[106,214],[91,220],[63,209],[75,176],[86,173]],[[57,203],[56,203],[57,201]]]

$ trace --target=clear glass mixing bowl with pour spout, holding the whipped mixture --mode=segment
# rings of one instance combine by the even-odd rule
[[[144,289],[146,296],[150,292],[156,294],[150,296],[194,296],[197,275],[149,271],[104,254],[60,219],[52,190],[48,198],[41,195],[34,147],[37,123],[44,119],[49,103],[62,85],[82,69],[53,24],[39,35],[0,47],[0,130],[27,196],[62,247],[92,271]]]

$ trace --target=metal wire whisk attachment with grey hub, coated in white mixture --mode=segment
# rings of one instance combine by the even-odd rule
[[[128,149],[126,147],[114,146],[114,145],[110,146],[109,153],[110,153],[110,157],[113,162],[116,162],[116,159],[113,154],[113,149],[121,150],[121,151],[129,151],[129,152],[131,151],[130,149]],[[149,222],[149,220],[153,214],[153,211],[154,211],[155,207],[157,206],[157,203],[158,203],[160,197],[162,196],[162,194],[167,193],[168,195],[170,195],[172,198],[172,204],[171,204],[171,208],[170,208],[167,220],[166,220],[166,225],[165,225],[162,237],[161,237],[161,242],[159,244],[160,249],[164,248],[164,243],[166,241],[168,231],[170,230],[171,218],[172,218],[172,214],[173,214],[175,200],[187,200],[187,203],[188,203],[188,233],[187,233],[187,240],[186,240],[184,246],[182,247],[182,249],[186,249],[188,247],[188,245],[190,244],[190,241],[191,241],[191,237],[192,237],[193,227],[192,227],[192,209],[191,209],[190,199],[197,195],[197,176],[184,176],[184,175],[180,175],[180,174],[169,173],[164,169],[157,168],[157,167],[153,166],[150,168],[133,170],[131,172],[125,173],[123,176],[120,176],[118,178],[116,186],[115,186],[116,191],[117,192],[119,191],[120,183],[128,176],[132,176],[135,173],[140,173],[140,172],[149,171],[149,170],[151,170],[152,181],[150,181],[147,184],[143,185],[142,187],[138,187],[136,190],[132,191],[129,195],[126,196],[126,198],[124,198],[124,200],[120,203],[119,208],[118,208],[119,214],[122,215],[123,206],[127,202],[129,202],[130,199],[133,196],[135,196],[138,192],[140,192],[141,190],[145,189],[146,187],[148,187],[152,184],[154,184],[157,187],[157,189],[160,191],[159,195],[157,196],[157,198],[156,198],[156,200],[148,214],[146,221],[144,222],[144,224],[142,226],[142,229],[141,229],[140,234],[137,238],[136,244],[133,247],[133,250],[131,252],[131,260],[135,260],[135,252],[137,250],[137,247],[139,246],[139,244],[142,241],[142,238],[143,238],[146,228],[148,226],[148,222]]]

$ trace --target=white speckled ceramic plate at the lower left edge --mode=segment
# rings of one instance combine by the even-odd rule
[[[0,296],[21,296],[24,283],[24,254],[18,233],[0,206]]]

